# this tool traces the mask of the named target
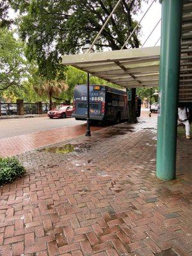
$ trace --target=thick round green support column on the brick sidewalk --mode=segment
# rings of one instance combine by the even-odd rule
[[[176,172],[182,0],[161,0],[161,3],[160,108],[156,175],[159,179],[173,180]]]

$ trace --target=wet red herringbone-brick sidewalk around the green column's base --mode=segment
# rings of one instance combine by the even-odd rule
[[[155,177],[156,118],[49,147],[63,143],[76,151],[17,156],[28,173],[1,188],[1,255],[192,255],[192,140],[171,182]]]

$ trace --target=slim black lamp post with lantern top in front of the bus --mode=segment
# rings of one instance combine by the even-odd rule
[[[85,40],[85,44],[82,48],[83,53],[88,53],[88,50],[90,49],[91,42],[89,39]],[[90,49],[89,52],[94,52],[93,48]],[[90,131],[90,74],[87,72],[87,116],[86,116],[86,136],[91,136]]]

